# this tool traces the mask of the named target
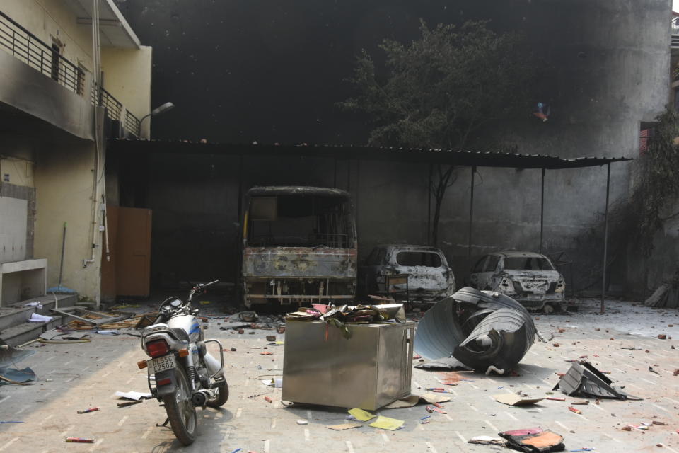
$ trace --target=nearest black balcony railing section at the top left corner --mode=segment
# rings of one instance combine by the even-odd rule
[[[85,73],[44,41],[0,11],[0,47],[76,94],[83,94]]]

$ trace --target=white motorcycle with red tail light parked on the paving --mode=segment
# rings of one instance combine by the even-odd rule
[[[224,348],[218,340],[204,340],[191,299],[203,294],[205,287],[192,287],[187,302],[178,297],[166,299],[158,307],[158,317],[141,332],[141,348],[151,359],[138,362],[148,369],[149,389],[163,403],[175,437],[183,445],[196,438],[197,407],[218,408],[228,400],[224,378]],[[219,346],[219,360],[207,352],[207,343]]]

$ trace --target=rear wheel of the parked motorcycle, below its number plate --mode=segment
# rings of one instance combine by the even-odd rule
[[[163,404],[175,437],[183,445],[191,445],[196,440],[198,417],[191,402],[191,391],[183,369],[175,369],[175,382],[175,393],[163,396]]]

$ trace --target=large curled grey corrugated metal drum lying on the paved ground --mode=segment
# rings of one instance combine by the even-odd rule
[[[511,297],[465,287],[426,312],[414,351],[437,364],[454,367],[459,361],[504,374],[526,355],[535,334],[533,318]]]

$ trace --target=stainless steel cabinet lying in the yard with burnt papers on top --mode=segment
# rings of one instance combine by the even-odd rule
[[[349,324],[344,338],[323,321],[287,321],[283,400],[373,411],[410,395],[414,326]]]

